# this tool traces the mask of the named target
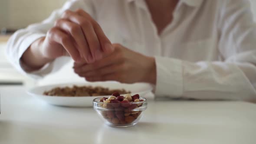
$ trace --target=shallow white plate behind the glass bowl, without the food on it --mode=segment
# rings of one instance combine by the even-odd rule
[[[131,91],[131,95],[139,94],[141,97],[144,97],[145,94],[148,94],[152,90],[152,86],[145,83],[136,83],[136,84],[121,84],[118,82],[87,82],[87,83],[72,83],[72,84],[59,84],[59,85],[46,85],[38,86],[31,88],[28,91],[28,94],[39,98],[51,105],[59,106],[69,106],[69,107],[92,107],[92,100],[101,96],[84,96],[84,97],[64,97],[64,96],[47,96],[43,95],[43,92],[49,91],[52,88],[56,87],[72,87],[73,85],[77,86],[102,86],[110,89],[119,89],[124,88],[127,91]],[[106,95],[105,97],[108,97]]]

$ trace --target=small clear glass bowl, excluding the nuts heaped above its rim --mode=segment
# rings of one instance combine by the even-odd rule
[[[100,98],[93,100],[93,108],[99,117],[108,126],[130,127],[138,123],[142,118],[142,111],[148,107],[146,98],[140,97],[138,102],[130,103],[106,103]]]

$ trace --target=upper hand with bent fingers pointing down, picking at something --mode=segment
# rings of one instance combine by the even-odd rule
[[[71,56],[75,62],[92,63],[114,50],[98,23],[85,11],[66,10],[43,40],[46,59]]]

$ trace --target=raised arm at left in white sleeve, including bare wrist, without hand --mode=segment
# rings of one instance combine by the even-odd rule
[[[92,0],[72,0],[67,1],[62,9],[55,10],[51,16],[49,16],[49,18],[44,20],[42,23],[32,24],[26,29],[17,30],[7,43],[7,58],[10,60],[13,66],[23,74],[27,74],[27,72],[29,72],[28,74],[33,77],[44,76],[49,72],[58,70],[60,67],[55,67],[56,65],[48,65],[45,67],[46,69],[40,69],[43,65],[50,61],[47,59],[42,59],[42,55],[40,55],[38,52],[39,43],[34,42],[37,41],[37,39],[46,36],[47,31],[54,26],[56,20],[61,18],[61,15],[65,12],[65,10],[75,11],[78,8],[82,8],[92,17],[95,16]],[[64,65],[67,61],[69,61],[69,58],[63,58],[58,61],[58,65]],[[40,70],[36,71],[37,69]],[[36,71],[36,73],[32,71]]]

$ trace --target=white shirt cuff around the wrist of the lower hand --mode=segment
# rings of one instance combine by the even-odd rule
[[[155,56],[157,69],[156,97],[178,98],[183,94],[182,61]]]

